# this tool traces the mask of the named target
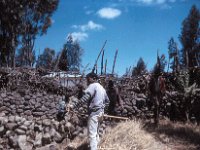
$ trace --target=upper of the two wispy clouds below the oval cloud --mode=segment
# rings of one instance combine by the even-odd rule
[[[85,25],[73,25],[72,28],[80,29],[81,31],[88,31],[88,30],[102,30],[104,27],[100,24],[97,24],[93,21],[88,21]]]

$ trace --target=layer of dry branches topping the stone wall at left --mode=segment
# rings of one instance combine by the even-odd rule
[[[8,91],[19,91],[23,93],[26,90],[31,92],[47,91],[55,94],[66,93],[67,88],[61,86],[57,78],[47,78],[47,70],[34,68],[1,68],[0,69],[0,89]]]

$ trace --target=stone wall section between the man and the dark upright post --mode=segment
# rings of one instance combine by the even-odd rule
[[[121,97],[123,100],[123,109],[116,108],[120,116],[129,118],[141,117],[147,110],[147,84],[143,78],[123,78],[119,82],[121,88]]]

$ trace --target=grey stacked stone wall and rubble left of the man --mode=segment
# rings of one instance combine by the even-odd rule
[[[33,149],[87,136],[86,105],[57,120],[59,95],[0,93],[0,149]],[[83,114],[85,113],[85,114]],[[105,127],[105,125],[104,125]],[[103,132],[103,129],[100,129]]]

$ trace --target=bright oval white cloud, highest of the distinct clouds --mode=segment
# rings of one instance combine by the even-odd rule
[[[105,7],[100,9],[97,14],[101,18],[114,19],[121,15],[121,11],[119,9]]]

